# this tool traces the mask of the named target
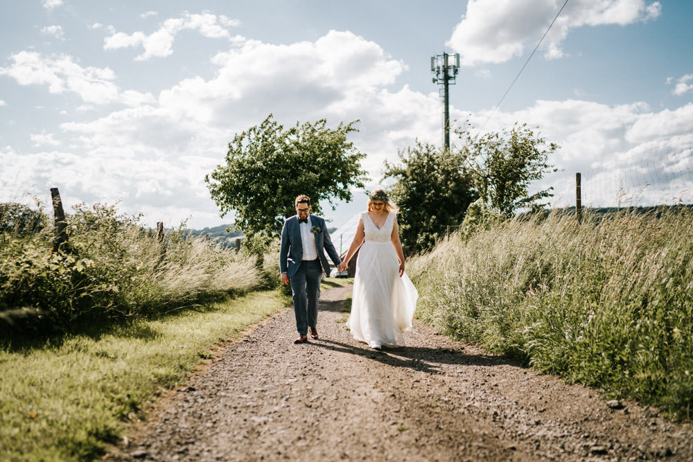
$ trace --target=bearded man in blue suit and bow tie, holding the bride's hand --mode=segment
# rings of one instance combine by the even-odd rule
[[[291,281],[294,299],[296,328],[299,337],[295,344],[304,344],[310,338],[317,339],[317,301],[320,298],[322,272],[330,275],[330,265],[324,251],[327,251],[335,265],[341,260],[332,245],[325,220],[310,214],[310,197],[299,195],[295,201],[296,215],[289,217],[281,229],[279,249],[279,271],[281,282]]]

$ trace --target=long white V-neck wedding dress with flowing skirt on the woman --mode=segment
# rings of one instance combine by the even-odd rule
[[[356,259],[347,326],[355,339],[371,348],[404,345],[402,332],[411,330],[419,298],[407,274],[399,276],[399,260],[390,242],[394,219],[389,213],[378,229],[368,212],[361,213],[365,240]]]

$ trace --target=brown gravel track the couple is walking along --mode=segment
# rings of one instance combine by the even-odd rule
[[[693,427],[539,375],[415,321],[371,352],[345,329],[351,287],[322,294],[319,340],[293,310],[216,351],[107,460],[693,460]]]

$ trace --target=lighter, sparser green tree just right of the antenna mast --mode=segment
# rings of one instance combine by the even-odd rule
[[[530,195],[529,184],[558,171],[548,163],[548,156],[559,145],[546,143],[526,123],[500,133],[472,135],[465,126],[455,133],[462,140],[459,152],[474,186],[491,210],[510,217],[518,208],[542,208],[545,204],[538,201],[553,196],[553,188]]]

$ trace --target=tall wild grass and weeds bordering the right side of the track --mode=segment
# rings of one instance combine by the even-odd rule
[[[693,213],[510,220],[412,259],[418,316],[540,371],[693,418]]]

